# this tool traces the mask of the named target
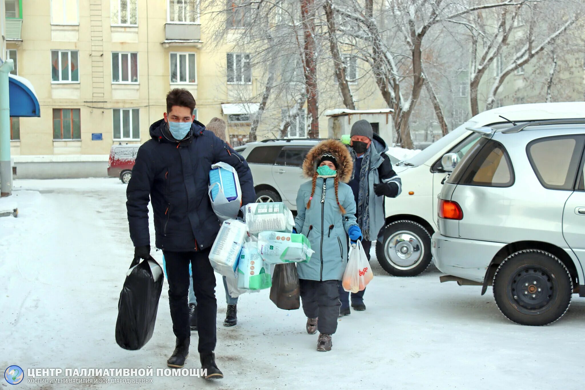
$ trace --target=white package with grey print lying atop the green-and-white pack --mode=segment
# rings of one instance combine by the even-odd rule
[[[292,213],[283,202],[248,203],[244,220],[250,234],[267,231],[291,233],[294,227]]]

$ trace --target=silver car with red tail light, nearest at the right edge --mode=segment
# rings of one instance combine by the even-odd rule
[[[547,325],[585,296],[585,119],[481,127],[439,194],[441,281],[493,285],[505,317]],[[455,167],[455,170],[453,170]]]

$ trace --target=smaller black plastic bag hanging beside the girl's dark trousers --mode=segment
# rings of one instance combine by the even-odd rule
[[[301,288],[298,284],[297,265],[276,264],[270,288],[270,301],[277,308],[296,310],[301,307]]]

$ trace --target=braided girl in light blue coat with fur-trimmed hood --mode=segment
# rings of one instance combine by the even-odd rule
[[[309,151],[302,169],[312,180],[298,190],[295,230],[307,236],[315,251],[308,263],[297,264],[302,309],[307,332],[319,330],[317,350],[330,351],[341,305],[338,283],[347,264],[347,236],[352,242],[362,237],[355,198],[346,184],[353,160],[345,145],[326,140]]]

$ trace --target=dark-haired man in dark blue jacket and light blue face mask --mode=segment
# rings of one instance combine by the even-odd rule
[[[222,378],[215,364],[217,303],[215,274],[209,250],[219,231],[219,220],[208,196],[211,165],[222,161],[238,172],[243,204],[254,202],[252,172],[243,157],[193,115],[195,99],[185,89],[167,95],[164,119],[150,126],[150,137],[136,156],[128,184],[128,222],[135,257],[150,256],[148,203],[152,202],[156,247],[163,250],[168,278],[168,302],[177,337],[168,367],[180,368],[189,353],[187,305],[189,264],[197,297],[199,358],[206,379]]]

